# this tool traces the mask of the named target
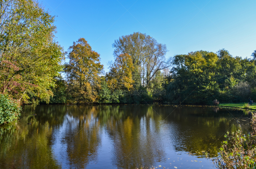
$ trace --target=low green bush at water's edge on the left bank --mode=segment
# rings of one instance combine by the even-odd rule
[[[7,95],[0,94],[0,124],[16,120],[20,116],[20,106]]]

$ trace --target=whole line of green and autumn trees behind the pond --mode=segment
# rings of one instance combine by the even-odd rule
[[[109,72],[100,76],[100,54],[84,38],[64,52],[54,35],[55,16],[42,5],[5,0],[0,6],[0,94],[17,105],[212,104],[214,99],[227,103],[256,97],[256,50],[252,59],[233,57],[225,49],[166,58],[165,44],[134,32],[114,41],[115,59],[108,63]],[[65,55],[69,62],[63,65]],[[143,94],[124,94],[132,90]],[[166,95],[153,95],[156,90]]]

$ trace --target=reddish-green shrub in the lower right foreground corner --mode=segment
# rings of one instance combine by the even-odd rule
[[[221,169],[254,169],[256,167],[256,114],[252,115],[252,132],[245,136],[241,126],[236,132],[225,134],[220,147],[221,158],[212,159]]]

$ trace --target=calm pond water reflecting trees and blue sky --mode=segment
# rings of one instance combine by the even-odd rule
[[[226,131],[251,130],[249,115],[218,107],[39,105],[23,112],[0,126],[0,168],[214,168],[204,151],[216,157]]]

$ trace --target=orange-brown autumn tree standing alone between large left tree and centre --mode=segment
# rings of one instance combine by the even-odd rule
[[[68,80],[68,93],[71,103],[93,103],[97,100],[97,79],[103,70],[100,54],[93,51],[84,38],[73,42],[68,48],[69,62],[64,71]]]

